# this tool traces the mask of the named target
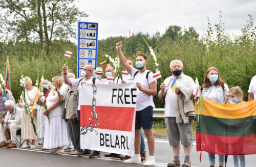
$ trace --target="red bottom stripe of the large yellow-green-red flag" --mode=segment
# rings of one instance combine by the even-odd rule
[[[216,136],[196,133],[197,151],[221,155],[256,154],[256,134],[248,136]]]

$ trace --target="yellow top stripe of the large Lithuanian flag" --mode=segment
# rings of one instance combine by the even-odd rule
[[[197,103],[195,103],[195,110],[198,115]],[[238,119],[256,116],[256,99],[245,103],[222,104],[212,102],[204,98],[200,115],[225,119]]]

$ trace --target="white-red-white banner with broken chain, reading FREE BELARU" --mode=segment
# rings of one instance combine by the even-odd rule
[[[133,156],[136,91],[135,83],[81,86],[81,149]]]

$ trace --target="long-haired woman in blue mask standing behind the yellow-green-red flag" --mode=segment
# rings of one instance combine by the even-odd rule
[[[204,99],[223,103],[228,94],[228,86],[221,79],[215,67],[210,67],[204,76],[204,83],[199,90],[199,95]],[[208,153],[210,167],[215,166],[215,154]],[[219,166],[224,166],[225,155],[219,155]]]

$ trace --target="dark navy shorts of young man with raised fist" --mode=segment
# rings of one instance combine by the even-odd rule
[[[135,129],[141,129],[141,127],[145,130],[152,129],[153,124],[153,107],[147,106],[146,108],[136,111],[135,117]]]

